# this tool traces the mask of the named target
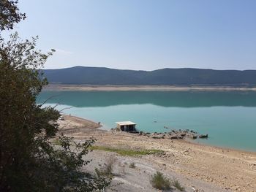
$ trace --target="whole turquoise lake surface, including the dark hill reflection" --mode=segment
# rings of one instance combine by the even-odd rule
[[[256,92],[43,91],[37,102],[46,99],[59,110],[67,108],[65,114],[101,122],[104,128],[131,120],[140,131],[193,129],[209,135],[195,142],[256,151]]]

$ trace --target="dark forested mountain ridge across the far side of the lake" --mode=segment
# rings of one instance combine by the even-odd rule
[[[135,71],[105,67],[75,66],[45,69],[50,83],[88,85],[256,85],[256,70],[158,69]]]

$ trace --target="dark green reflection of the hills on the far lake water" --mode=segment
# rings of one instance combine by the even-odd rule
[[[43,91],[37,102],[75,107],[154,104],[162,107],[256,107],[253,91]]]

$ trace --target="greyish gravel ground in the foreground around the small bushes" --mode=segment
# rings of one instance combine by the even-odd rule
[[[148,155],[148,158],[151,158]],[[94,159],[84,169],[91,173],[94,169],[100,168],[105,163],[108,164],[109,159],[114,159],[113,164],[113,182],[107,191],[159,191],[152,187],[150,180],[152,175],[159,171],[165,174],[170,180],[178,180],[185,191],[227,191],[219,188],[211,183],[206,183],[196,178],[188,179],[182,174],[177,174],[167,169],[165,165],[159,166],[151,164],[146,159],[117,155],[116,153],[94,150],[86,156],[86,159]],[[131,168],[130,164],[135,164],[135,168]],[[171,191],[179,191],[173,188]]]

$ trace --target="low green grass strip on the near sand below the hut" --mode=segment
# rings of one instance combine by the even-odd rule
[[[131,150],[131,149],[118,149],[113,147],[105,147],[105,146],[91,146],[91,150],[105,150],[110,152],[118,153],[119,155],[127,155],[127,156],[137,156],[137,155],[152,155],[152,154],[160,154],[163,153],[162,150]]]

